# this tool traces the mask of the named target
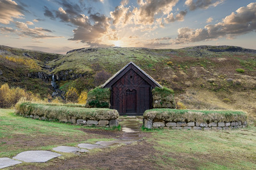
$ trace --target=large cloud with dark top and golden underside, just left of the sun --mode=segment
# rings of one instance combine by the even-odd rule
[[[81,41],[90,46],[109,46],[106,44],[110,44],[110,41],[118,40],[115,29],[110,28],[111,19],[98,12],[92,14],[92,11],[88,11],[89,15],[83,14],[85,9],[83,1],[73,3],[62,0],[57,1],[57,3],[60,5],[58,10],[52,10],[52,15],[47,16],[53,19],[60,19],[60,22],[77,27],[73,29],[73,37],[68,40]],[[44,9],[45,11],[49,10],[46,7]],[[90,10],[90,8],[86,9]]]

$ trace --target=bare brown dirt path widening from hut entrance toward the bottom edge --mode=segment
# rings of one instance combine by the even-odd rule
[[[135,141],[125,146],[104,148],[102,151],[80,154],[69,159],[52,159],[40,166],[20,165],[14,169],[159,169],[154,161],[155,149],[145,139],[150,133],[140,131],[138,121],[127,120],[122,124],[125,131],[81,129],[86,133],[98,134],[105,138]]]

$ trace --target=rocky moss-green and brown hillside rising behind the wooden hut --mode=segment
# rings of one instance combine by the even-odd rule
[[[52,75],[58,90],[90,90],[133,61],[160,84],[174,89],[176,101],[188,108],[256,112],[256,50],[252,49],[109,47],[75,49],[61,55],[0,46],[0,55],[0,84],[8,82],[42,97],[54,91]]]

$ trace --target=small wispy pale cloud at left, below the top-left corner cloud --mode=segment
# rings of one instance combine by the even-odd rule
[[[44,29],[41,27],[28,28],[28,25],[23,22],[15,22],[15,25],[18,29],[15,30],[21,37],[32,37],[33,39],[56,39],[61,38],[58,36],[49,35],[52,33],[49,29]]]

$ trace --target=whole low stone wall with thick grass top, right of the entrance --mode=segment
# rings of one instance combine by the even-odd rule
[[[150,109],[143,117],[143,125],[148,129],[228,130],[247,126],[246,113],[241,111]]]

